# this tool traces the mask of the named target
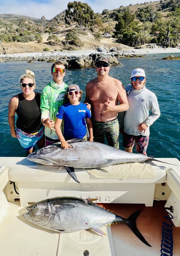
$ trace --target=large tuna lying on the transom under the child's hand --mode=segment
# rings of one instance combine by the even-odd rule
[[[29,154],[27,158],[43,165],[64,166],[77,182],[79,181],[74,168],[101,168],[122,163],[155,160],[144,154],[129,153],[99,142],[72,139],[68,143],[71,144],[71,148],[62,149],[60,142],[54,143]]]

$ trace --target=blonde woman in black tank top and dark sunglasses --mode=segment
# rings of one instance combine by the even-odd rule
[[[41,122],[40,92],[35,92],[34,72],[26,70],[26,74],[20,77],[22,93],[15,95],[9,102],[8,122],[11,136],[18,138],[26,154],[45,145],[44,126]],[[15,112],[18,116],[15,128]]]

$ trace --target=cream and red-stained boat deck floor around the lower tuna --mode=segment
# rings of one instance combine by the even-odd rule
[[[26,212],[19,200],[9,202],[9,208],[0,222],[1,256],[158,256],[161,255],[162,223],[167,220],[164,210],[166,201],[154,201],[152,207],[144,204],[100,204],[114,213],[128,218],[134,211],[142,209],[137,218],[137,227],[151,244],[143,244],[126,224],[118,223],[102,227],[108,236],[92,231],[60,234],[37,227],[21,217]],[[111,232],[110,232],[111,230]],[[112,234],[112,236],[111,236]],[[173,226],[173,255],[180,252],[180,227]],[[77,245],[78,244],[78,245]],[[87,254],[88,255],[88,254]],[[168,254],[167,254],[168,255]]]

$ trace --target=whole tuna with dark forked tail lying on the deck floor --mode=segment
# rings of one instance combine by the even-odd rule
[[[136,227],[136,219],[141,210],[125,219],[92,203],[92,200],[94,199],[54,197],[26,207],[28,213],[22,216],[37,226],[63,233],[92,229],[105,235],[99,227],[122,222],[126,223],[143,243],[151,246]]]

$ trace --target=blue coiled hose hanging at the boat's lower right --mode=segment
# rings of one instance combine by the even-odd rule
[[[163,222],[162,226],[162,240],[161,240],[161,256],[172,256],[173,255],[173,216],[170,212],[174,211],[172,206],[165,207],[168,216],[164,215],[164,218],[167,219],[168,222]]]

